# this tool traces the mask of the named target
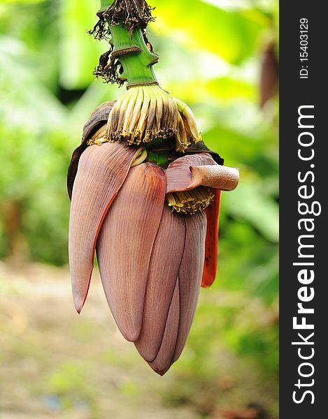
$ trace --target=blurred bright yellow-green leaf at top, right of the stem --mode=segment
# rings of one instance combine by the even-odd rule
[[[194,1],[156,1],[156,34],[173,34],[176,41],[218,54],[239,64],[255,52],[257,39],[268,18],[257,10],[228,11]]]

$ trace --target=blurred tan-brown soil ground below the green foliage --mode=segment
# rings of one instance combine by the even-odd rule
[[[261,388],[253,369],[219,350],[229,367],[215,384],[218,408],[206,412],[197,394],[193,404],[173,403],[172,389],[187,383],[175,365],[157,376],[123,339],[97,272],[79,316],[67,268],[0,263],[1,419],[276,419],[246,408],[260,399],[274,411],[276,389]]]

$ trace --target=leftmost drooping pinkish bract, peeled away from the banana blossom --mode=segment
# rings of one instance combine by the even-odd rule
[[[120,144],[87,147],[78,163],[69,220],[69,267],[78,313],[89,291],[104,217],[140,152]]]

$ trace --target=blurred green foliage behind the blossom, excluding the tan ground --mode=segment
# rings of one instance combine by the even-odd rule
[[[278,50],[278,1],[150,4],[157,15],[148,37],[161,57],[158,80],[194,110],[208,147],[241,170],[238,189],[223,193],[213,300],[211,290],[204,291],[186,349],[192,355],[177,367],[190,380],[190,393],[180,396],[192,399],[199,385],[211,383],[219,344],[276,379],[278,107],[273,98],[259,108],[259,73],[267,43],[276,42]],[[87,35],[98,8],[98,0],[0,1],[2,258],[16,251],[16,228],[30,260],[67,263],[71,152],[92,109],[122,94],[92,75],[108,49]],[[13,208],[17,220],[8,227]],[[230,291],[236,301],[218,309],[215,298]],[[248,307],[249,298],[258,307]],[[48,385],[64,391],[62,376],[70,368]],[[174,397],[179,391],[172,390]]]

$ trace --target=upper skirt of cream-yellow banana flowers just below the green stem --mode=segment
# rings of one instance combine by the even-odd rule
[[[174,138],[176,151],[185,152],[201,135],[190,108],[181,103],[156,84],[131,87],[109,114],[106,138],[124,145]]]

